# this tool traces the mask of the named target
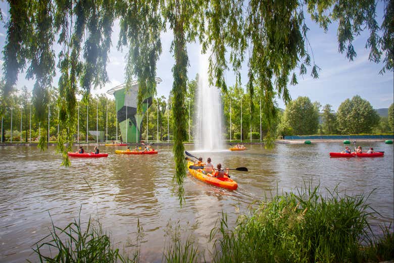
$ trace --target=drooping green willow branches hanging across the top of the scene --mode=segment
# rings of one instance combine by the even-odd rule
[[[139,105],[145,93],[156,91],[154,78],[162,51],[160,33],[173,31],[174,179],[180,199],[185,177],[182,140],[186,136],[188,42],[198,38],[203,51],[210,53],[210,82],[224,91],[225,70],[234,71],[239,85],[240,68],[248,57],[249,98],[253,101],[255,92],[260,94],[268,127],[275,118],[275,94],[287,104],[291,99],[288,86],[297,84],[297,76],[307,74],[311,67],[311,76],[318,77],[319,67],[307,37],[308,14],[325,31],[331,23],[338,24],[338,50],[349,60],[357,56],[352,44],[355,37],[368,30],[369,60],[376,63],[383,60],[382,74],[393,71],[394,0],[383,2],[380,25],[376,21],[377,0],[9,0],[8,3],[2,106],[7,105],[18,74],[26,70],[27,77],[35,79],[36,118],[44,122],[48,89],[53,85],[58,62],[62,123],[59,144],[69,142],[69,149],[60,149],[64,165],[69,165],[66,153],[75,133],[76,93],[82,91],[87,98],[92,87],[102,87],[108,81],[106,67],[114,21],[120,20],[121,26],[118,48],[129,47],[126,86],[132,79],[138,80]],[[62,47],[59,54],[55,54],[55,43]],[[252,113],[253,110],[251,102]]]

